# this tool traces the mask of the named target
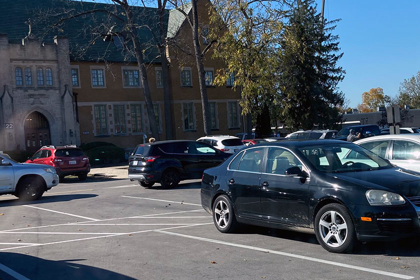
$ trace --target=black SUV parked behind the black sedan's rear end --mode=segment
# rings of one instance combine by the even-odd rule
[[[190,140],[140,144],[128,159],[128,178],[144,187],[156,182],[174,187],[180,180],[200,179],[204,169],[219,165],[229,156],[206,143]]]

